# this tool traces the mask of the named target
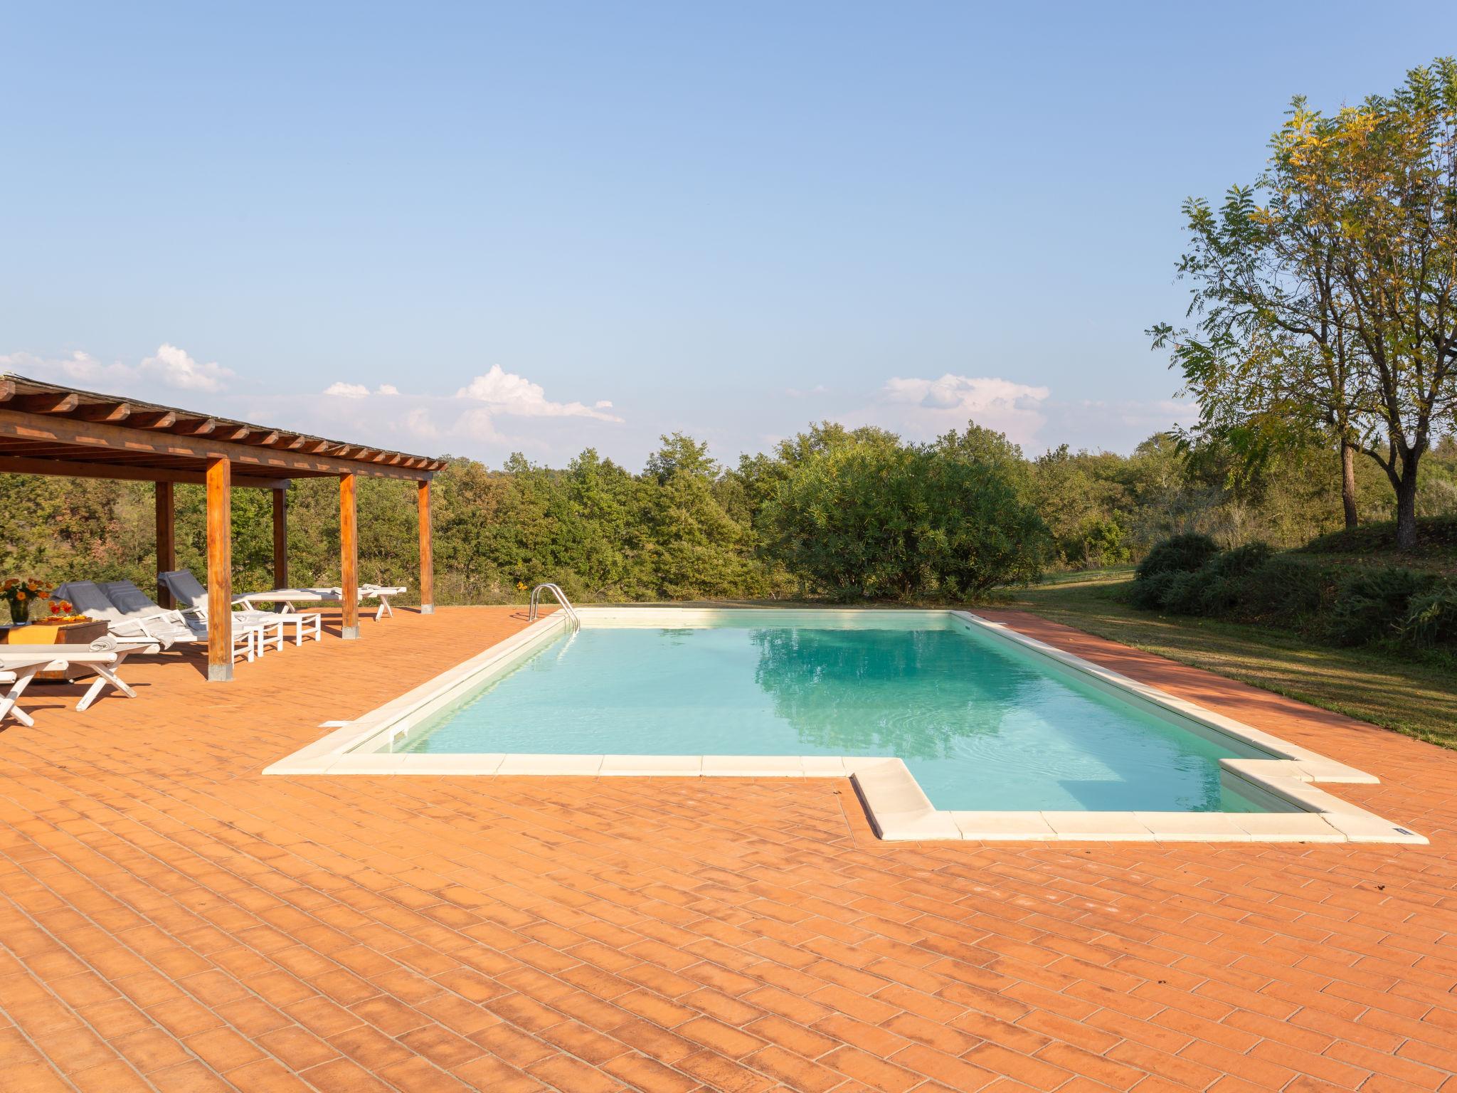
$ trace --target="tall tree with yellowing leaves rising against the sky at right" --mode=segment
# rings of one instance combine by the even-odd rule
[[[1297,98],[1271,152],[1218,214],[1185,204],[1198,332],[1161,324],[1154,345],[1233,450],[1333,439],[1348,525],[1354,453],[1374,459],[1410,549],[1421,458],[1457,412],[1457,61],[1333,117]]]

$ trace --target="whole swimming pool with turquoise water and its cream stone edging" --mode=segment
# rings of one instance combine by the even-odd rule
[[[267,774],[848,777],[892,839],[1423,842],[1375,778],[962,611],[584,608]]]

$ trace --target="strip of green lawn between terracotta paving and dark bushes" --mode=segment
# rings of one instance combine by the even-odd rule
[[[1007,606],[1457,749],[1457,678],[1371,649],[1326,649],[1237,622],[1158,615],[1122,600],[1128,570],[1062,574]]]

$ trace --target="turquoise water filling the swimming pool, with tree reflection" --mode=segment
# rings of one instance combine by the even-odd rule
[[[922,625],[587,627],[396,748],[896,755],[940,809],[1269,806],[1230,790],[1218,765],[1268,753],[1217,743],[963,624]]]

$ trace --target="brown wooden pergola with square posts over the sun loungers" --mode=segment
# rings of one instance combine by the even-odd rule
[[[172,487],[207,485],[207,678],[233,678],[233,487],[272,490],[274,587],[288,587],[287,488],[291,478],[339,479],[342,634],[360,635],[358,513],[363,477],[418,484],[420,611],[434,611],[430,479],[444,462],[175,407],[98,395],[0,373],[0,472],[121,478],[156,484],[157,571],[176,568]],[[76,574],[77,579],[85,574]],[[157,589],[157,602],[173,606]]]

